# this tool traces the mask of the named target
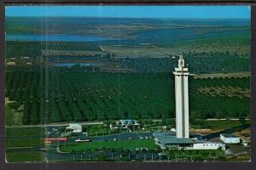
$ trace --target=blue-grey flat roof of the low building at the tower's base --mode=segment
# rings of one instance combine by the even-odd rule
[[[179,139],[175,133],[153,133],[162,144],[194,144],[192,139]]]

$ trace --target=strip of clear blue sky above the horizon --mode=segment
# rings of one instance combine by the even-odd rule
[[[6,16],[249,19],[249,6],[8,6]]]

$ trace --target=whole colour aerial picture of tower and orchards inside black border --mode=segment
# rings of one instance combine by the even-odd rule
[[[7,6],[5,161],[251,161],[249,6]]]

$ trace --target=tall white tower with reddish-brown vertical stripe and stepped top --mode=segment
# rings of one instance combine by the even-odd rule
[[[179,56],[175,75],[176,136],[189,138],[189,71],[183,55]]]

